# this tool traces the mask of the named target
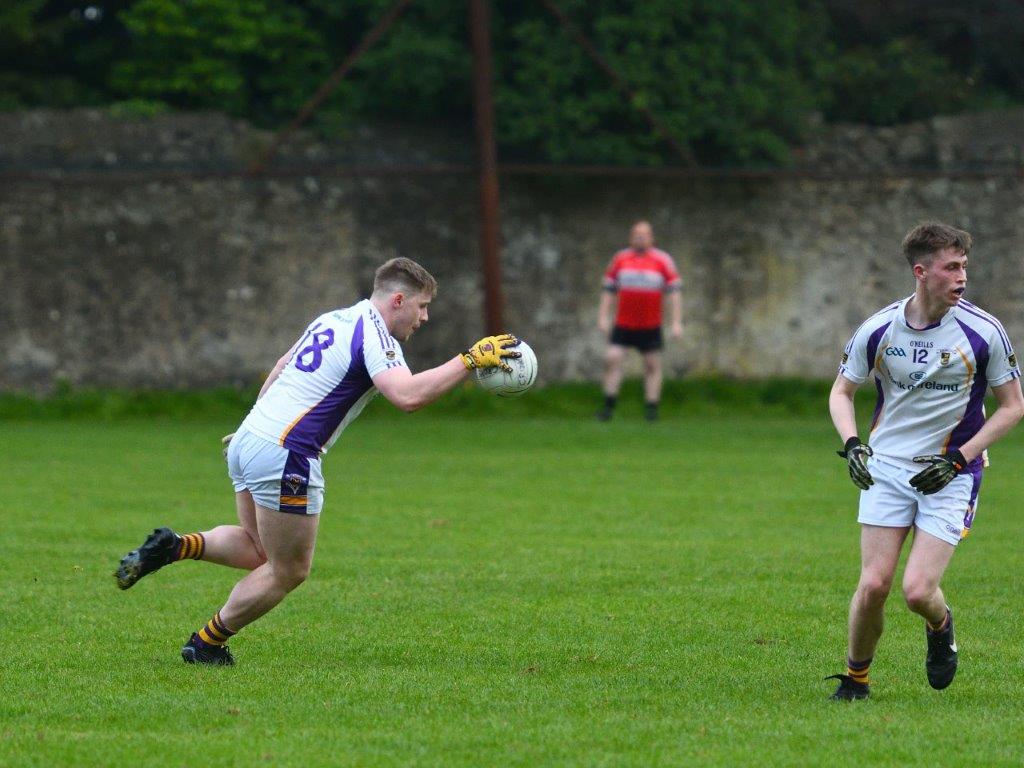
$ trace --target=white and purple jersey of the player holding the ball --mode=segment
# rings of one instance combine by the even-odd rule
[[[373,377],[406,366],[369,299],[322,314],[242,426],[308,458],[326,454],[377,394]]]

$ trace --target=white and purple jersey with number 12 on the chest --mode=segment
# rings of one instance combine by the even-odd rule
[[[958,451],[977,434],[988,387],[1019,378],[1020,370],[1007,332],[988,312],[962,299],[918,330],[906,322],[910,298],[867,318],[846,345],[839,372],[857,384],[874,372],[871,450],[920,469],[913,457]],[[982,462],[975,459],[972,471]]]

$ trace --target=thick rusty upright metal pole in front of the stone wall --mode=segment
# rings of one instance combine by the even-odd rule
[[[505,331],[502,317],[502,256],[495,150],[495,103],[492,93],[489,0],[469,0],[473,37],[473,103],[480,167],[480,251],[483,257],[484,322],[487,333]]]

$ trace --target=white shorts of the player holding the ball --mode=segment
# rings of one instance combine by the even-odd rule
[[[247,429],[227,445],[227,475],[234,492],[248,490],[261,507],[293,515],[318,515],[324,508],[319,459],[307,459]]]

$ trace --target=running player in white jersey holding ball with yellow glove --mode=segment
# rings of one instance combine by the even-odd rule
[[[314,319],[274,366],[252,411],[227,443],[239,525],[179,536],[158,528],[115,572],[128,589],[183,559],[244,568],[227,602],[181,649],[187,663],[231,665],[225,643],[302,584],[309,573],[324,499],[321,458],[380,392],[403,411],[433,402],[477,368],[511,370],[519,343],[488,336],[447,362],[413,374],[399,342],[427,322],[434,278],[406,258],[374,276],[374,293]]]

